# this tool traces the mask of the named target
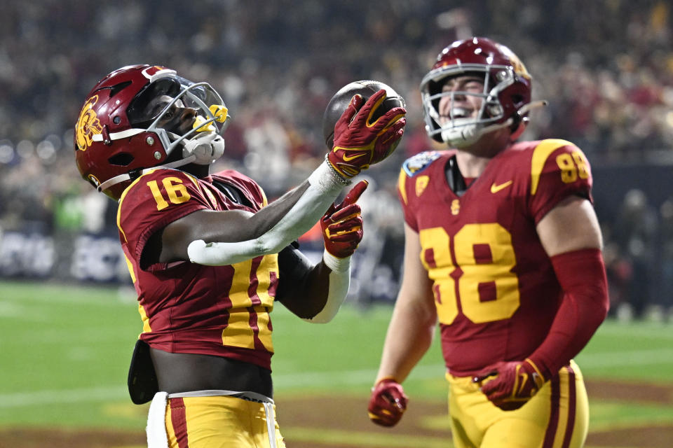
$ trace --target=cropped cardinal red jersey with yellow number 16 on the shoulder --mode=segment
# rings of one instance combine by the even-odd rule
[[[217,183],[235,186],[252,207],[233,202]],[[235,171],[205,179],[175,169],[154,169],[136,179],[119,200],[117,226],[138,295],[140,338],[172,353],[225,356],[271,368],[271,321],[278,286],[278,256],[226,266],[180,261],[145,265],[149,238],[197,210],[258,211],[264,191]]]

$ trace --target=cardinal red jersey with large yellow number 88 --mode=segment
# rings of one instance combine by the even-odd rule
[[[454,151],[402,166],[398,193],[419,233],[451,374],[521,360],[543,341],[562,298],[536,224],[570,195],[591,198],[585,155],[564,140],[526,141],[493,158],[463,195],[444,173]]]

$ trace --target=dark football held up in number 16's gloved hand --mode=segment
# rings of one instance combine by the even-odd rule
[[[341,89],[334,94],[332,99],[329,100],[329,103],[327,103],[325,114],[322,116],[322,135],[325,137],[327,148],[331,150],[332,146],[334,146],[334,125],[337,124],[337,120],[339,120],[341,114],[344,113],[348,107],[353,95],[360,94],[362,95],[362,98],[367,101],[372,94],[381,89],[386,89],[386,99],[383,100],[383,103],[381,103],[374,111],[374,115],[372,116],[374,120],[390,111],[390,109],[395,107],[406,107],[405,99],[402,98],[400,94],[397,94],[392,87],[375,80],[354,81],[353,83],[344,85],[344,87],[341,87]]]

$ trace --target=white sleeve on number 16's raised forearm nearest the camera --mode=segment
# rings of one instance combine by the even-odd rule
[[[308,188],[292,209],[264,235],[235,243],[192,241],[187,247],[189,260],[200,265],[233,265],[259,255],[278,253],[304,235],[327,211],[341,189],[350,183],[327,165],[327,160],[308,176]]]

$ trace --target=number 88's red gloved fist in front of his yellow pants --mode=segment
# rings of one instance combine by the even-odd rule
[[[526,358],[495,363],[475,374],[473,382],[481,385],[482,392],[494,405],[511,411],[525,405],[540,390],[545,377],[533,361]]]

